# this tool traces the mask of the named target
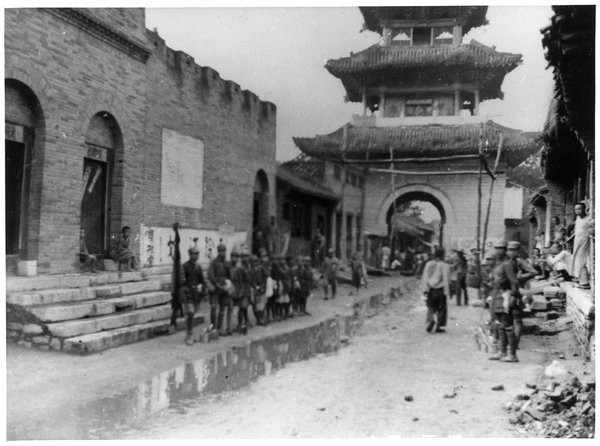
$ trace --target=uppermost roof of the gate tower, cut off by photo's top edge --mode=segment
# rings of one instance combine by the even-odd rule
[[[463,23],[463,33],[471,28],[487,24],[485,15],[487,6],[396,6],[372,7],[360,6],[360,12],[365,18],[366,28],[376,33],[382,33],[382,22],[388,20],[428,21],[439,19],[458,19]]]

